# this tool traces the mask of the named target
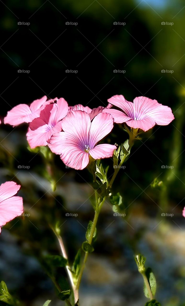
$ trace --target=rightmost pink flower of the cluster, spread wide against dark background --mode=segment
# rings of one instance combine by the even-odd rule
[[[132,103],[126,101],[123,95],[115,95],[108,99],[108,102],[121,110],[111,108],[104,109],[103,112],[111,114],[115,123],[126,122],[134,129],[148,131],[155,124],[168,125],[174,119],[170,107],[146,97],[137,97]]]

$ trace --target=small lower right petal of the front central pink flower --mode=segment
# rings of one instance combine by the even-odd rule
[[[112,144],[98,144],[96,147],[89,151],[93,159],[108,158],[113,155],[116,146]]]

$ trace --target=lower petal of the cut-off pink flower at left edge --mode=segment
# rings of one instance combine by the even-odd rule
[[[0,203],[0,226],[21,216],[23,213],[23,200],[20,196],[12,196]]]

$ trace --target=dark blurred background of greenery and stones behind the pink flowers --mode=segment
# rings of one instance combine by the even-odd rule
[[[133,257],[140,252],[156,276],[157,300],[185,305],[184,2],[3,0],[0,7],[1,120],[13,106],[43,95],[91,108],[116,94],[129,101],[144,95],[172,108],[175,120],[145,133],[119,172],[113,188],[123,196],[126,216],[114,216],[105,203],[80,297],[82,306],[144,305]],[[21,182],[27,214],[2,229],[0,280],[23,305],[47,299],[62,305],[38,260],[59,254],[46,220],[59,219],[72,262],[93,218],[92,178],[55,156],[53,193],[41,154],[27,149],[26,131],[24,124],[0,127],[0,183]],[[126,137],[115,126],[107,141],[120,144]]]

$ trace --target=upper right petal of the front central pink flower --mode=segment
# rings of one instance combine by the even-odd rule
[[[107,136],[113,129],[113,118],[111,114],[98,114],[91,122],[89,132],[89,147],[92,149],[98,141]]]

